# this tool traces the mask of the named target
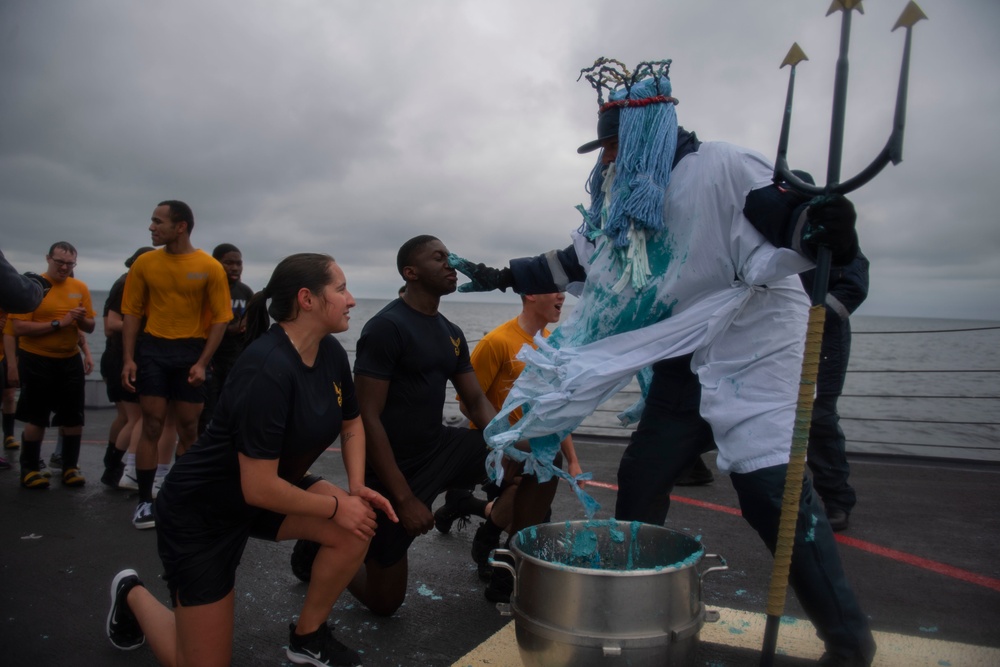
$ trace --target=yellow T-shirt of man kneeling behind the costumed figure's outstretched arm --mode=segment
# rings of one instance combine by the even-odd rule
[[[542,336],[548,338],[549,330],[542,329]],[[503,406],[514,381],[524,370],[524,362],[515,357],[525,343],[536,347],[532,336],[521,328],[515,317],[483,336],[472,351],[471,361],[476,379],[486,398],[497,410]],[[520,418],[520,408],[510,413],[511,424]],[[470,426],[477,428],[475,424]]]

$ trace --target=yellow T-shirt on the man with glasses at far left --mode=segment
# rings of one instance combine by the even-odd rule
[[[57,283],[47,274],[43,274],[52,283],[52,289],[45,295],[38,308],[31,313],[9,315],[9,318],[25,322],[51,322],[60,320],[66,313],[83,306],[87,317],[94,317],[94,306],[90,301],[90,290],[82,280],[67,278]],[[53,329],[44,336],[18,336],[18,347],[25,352],[53,359],[66,359],[80,354],[80,330],[76,322],[70,326]]]

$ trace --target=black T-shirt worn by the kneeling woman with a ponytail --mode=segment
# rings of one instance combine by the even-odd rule
[[[157,507],[181,512],[194,505],[220,519],[252,514],[256,508],[243,500],[237,452],[278,459],[278,475],[295,483],[337,439],[343,420],[359,414],[340,343],[323,338],[310,368],[275,324],[240,355],[212,422],[171,468],[160,490],[165,502]]]

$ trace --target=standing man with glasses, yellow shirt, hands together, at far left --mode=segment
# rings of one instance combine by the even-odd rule
[[[52,284],[31,313],[10,315],[20,351],[17,355],[21,395],[17,420],[24,422],[21,440],[21,484],[45,489],[49,481],[39,472],[45,429],[62,427],[64,486],[83,486],[86,479],[77,463],[83,434],[84,368],[80,333],[94,331],[90,290],[72,277],[77,252],[65,241],[52,244],[45,256],[44,278]]]

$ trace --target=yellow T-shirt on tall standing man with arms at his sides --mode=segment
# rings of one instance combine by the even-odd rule
[[[146,317],[157,338],[205,338],[209,326],[233,319],[226,270],[203,250],[147,252],[128,272],[122,314]]]

